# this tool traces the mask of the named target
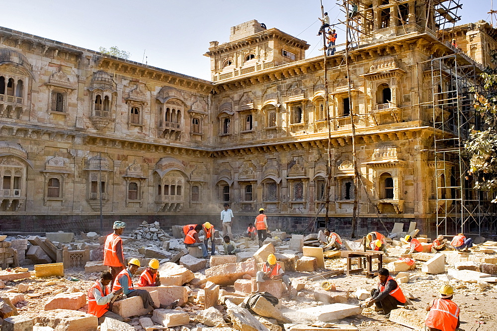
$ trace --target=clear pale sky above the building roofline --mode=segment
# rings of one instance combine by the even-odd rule
[[[458,24],[490,22],[491,0],[460,1]],[[332,23],[343,19],[336,0],[323,3]],[[118,46],[137,62],[145,51],[151,66],[208,80],[209,41],[229,41],[230,27],[251,19],[306,40],[308,58],[322,54],[319,0],[3,0],[1,10],[0,26],[91,50]]]

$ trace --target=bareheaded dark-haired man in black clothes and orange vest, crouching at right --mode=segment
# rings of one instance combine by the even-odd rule
[[[378,278],[378,288],[371,290],[371,298],[366,299],[363,306],[371,307],[374,303],[376,311],[382,311],[384,315],[388,315],[392,310],[397,309],[397,305],[404,306],[406,298],[399,284],[390,276],[387,269],[380,268]]]

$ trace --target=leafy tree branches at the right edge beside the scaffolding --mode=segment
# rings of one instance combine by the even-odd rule
[[[497,63],[497,51],[491,51],[491,58]],[[472,130],[466,142],[471,154],[470,173],[475,180],[475,189],[497,191],[497,68],[486,68],[481,74],[483,89],[475,93],[475,109],[485,120],[485,130]],[[497,199],[492,200],[497,202]]]

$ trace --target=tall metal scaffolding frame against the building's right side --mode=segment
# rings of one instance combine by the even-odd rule
[[[495,233],[496,206],[486,192],[474,189],[469,175],[470,155],[464,148],[471,130],[485,129],[473,106],[474,91],[482,88],[482,69],[464,53],[454,51],[429,62],[436,232]]]

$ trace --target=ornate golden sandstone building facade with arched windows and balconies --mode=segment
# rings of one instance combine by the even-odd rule
[[[422,104],[432,98],[426,61],[454,49],[409,3],[405,24],[374,9],[350,53],[350,99],[344,53],[327,60],[337,231],[349,231],[354,199],[351,109],[366,187],[359,232],[378,214],[428,232],[443,207],[433,183],[451,178],[452,165],[435,176],[433,109]],[[457,40],[483,65],[497,48],[485,22],[461,27]],[[303,230],[328,173],[323,58],[306,59],[308,48],[252,20],[210,43],[206,81],[0,28],[0,230],[98,229],[100,203],[106,228],[114,219],[219,225],[225,201],[240,228],[263,207],[271,228]]]

